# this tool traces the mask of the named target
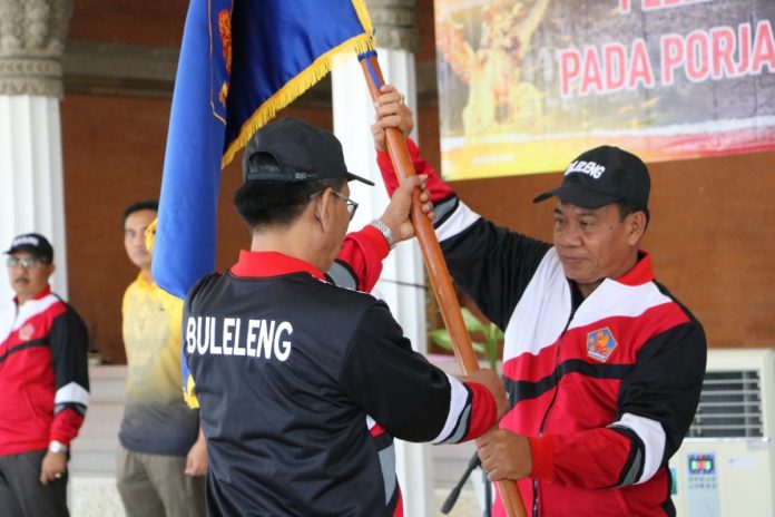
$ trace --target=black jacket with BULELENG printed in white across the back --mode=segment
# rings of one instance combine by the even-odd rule
[[[192,289],[183,323],[213,515],[401,515],[393,436],[459,442],[494,422],[487,389],[413,352],[383,302],[286,255],[242,252]]]

